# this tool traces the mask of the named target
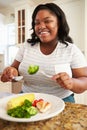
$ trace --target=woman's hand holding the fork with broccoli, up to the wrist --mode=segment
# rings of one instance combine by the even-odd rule
[[[65,89],[71,90],[73,88],[73,79],[66,72],[58,73],[52,79]]]

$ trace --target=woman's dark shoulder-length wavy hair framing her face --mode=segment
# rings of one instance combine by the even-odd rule
[[[58,40],[61,43],[66,44],[66,45],[68,45],[67,42],[73,43],[72,38],[69,36],[70,29],[69,29],[69,26],[68,26],[68,23],[66,20],[66,16],[65,16],[64,12],[62,11],[62,9],[54,3],[40,4],[35,8],[35,10],[32,14],[31,30],[33,30],[33,32],[31,34],[31,39],[28,39],[27,42],[29,42],[31,45],[34,45],[34,44],[40,42],[40,39],[37,37],[37,35],[35,33],[34,27],[35,27],[36,15],[37,15],[38,11],[43,10],[43,9],[50,10],[57,16],[57,19],[59,21]]]

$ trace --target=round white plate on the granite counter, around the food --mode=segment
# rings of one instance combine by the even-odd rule
[[[44,93],[34,93],[35,99],[42,98],[45,101],[48,101],[52,104],[51,108],[47,112],[38,113],[35,116],[32,116],[31,118],[14,118],[14,117],[9,116],[6,111],[7,102],[9,101],[9,99],[19,96],[19,95],[23,95],[23,94],[17,94],[17,95],[8,96],[6,98],[0,99],[0,118],[1,119],[14,121],[14,122],[40,121],[40,120],[45,120],[45,119],[49,119],[51,117],[56,116],[57,114],[62,112],[65,108],[64,101],[56,96],[44,94]]]

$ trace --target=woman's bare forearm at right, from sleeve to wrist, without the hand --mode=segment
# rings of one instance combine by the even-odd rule
[[[72,69],[73,73],[73,87],[72,91],[82,93],[87,90],[87,67]]]

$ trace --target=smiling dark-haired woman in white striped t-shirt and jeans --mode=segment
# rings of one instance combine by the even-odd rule
[[[74,102],[73,93],[87,90],[87,63],[69,36],[64,12],[54,3],[38,5],[32,15],[32,30],[31,39],[19,49],[11,65],[24,77],[22,91],[53,94]],[[31,64],[39,65],[52,78],[39,72],[29,75],[27,70]],[[58,64],[70,64],[72,77],[67,72],[55,74]],[[12,80],[11,68],[3,71],[2,81]]]

